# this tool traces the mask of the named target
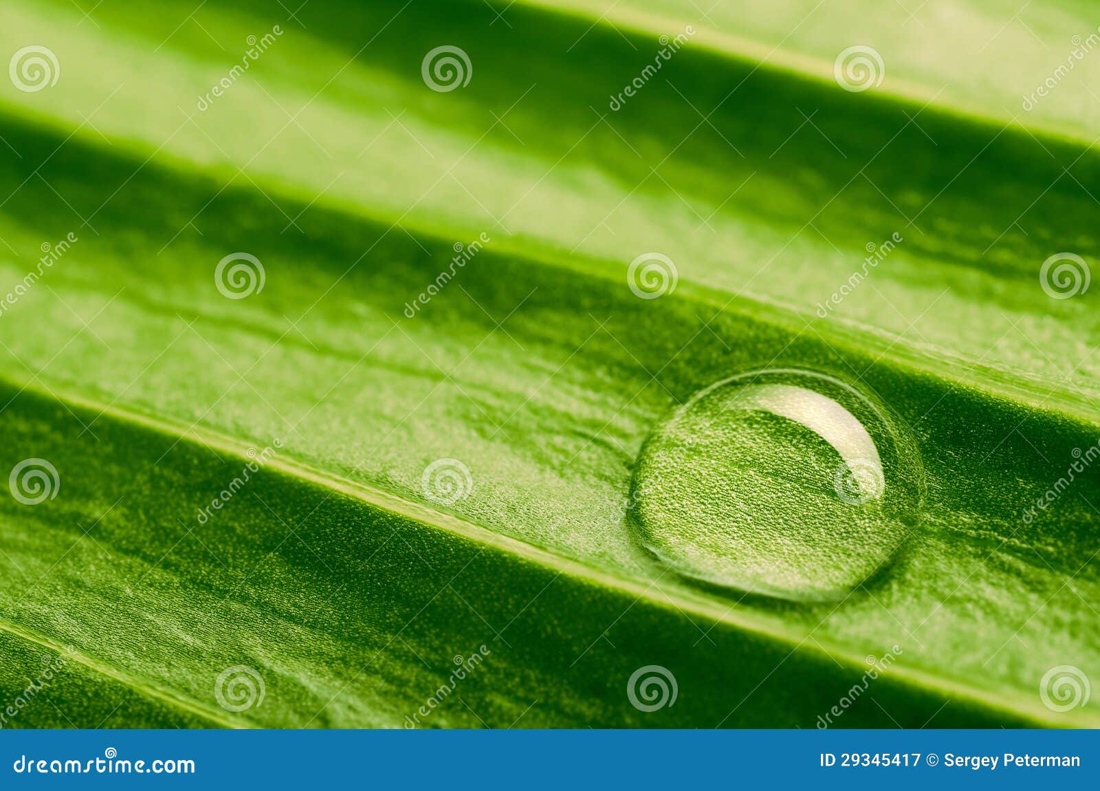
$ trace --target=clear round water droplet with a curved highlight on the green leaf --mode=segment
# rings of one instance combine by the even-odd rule
[[[657,427],[632,502],[641,543],[679,573],[828,601],[916,527],[924,473],[915,440],[873,394],[776,369],[711,385]]]

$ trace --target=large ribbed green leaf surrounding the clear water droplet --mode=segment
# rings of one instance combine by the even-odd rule
[[[67,658],[11,724],[402,726],[424,705],[425,726],[812,727],[869,655],[891,657],[873,701],[833,724],[1100,722],[1040,694],[1052,668],[1100,670],[1096,472],[1058,483],[1097,441],[1094,293],[1040,281],[1096,257],[1079,98],[1100,66],[1005,109],[1088,14],[1033,3],[1048,48],[1016,57],[1002,12],[942,2],[921,19],[970,45],[937,58],[868,3],[10,6],[0,50],[48,46],[59,78],[0,87],[0,275],[56,257],[0,314],[2,461],[57,484],[2,502],[3,692]],[[857,44],[886,78],[848,92],[832,64]],[[440,45],[469,85],[426,85]],[[242,299],[216,282],[234,253],[264,273]],[[639,298],[652,253],[678,282]],[[694,540],[714,513],[698,459],[636,502],[644,448],[765,367],[847,383],[916,449],[887,562],[818,545],[855,584],[828,601],[700,584],[639,546],[638,520]],[[832,517],[747,485],[793,485],[774,431],[750,448],[771,472],[733,488],[827,541]],[[249,449],[275,450],[227,488]],[[440,460],[464,497],[425,485]],[[674,705],[631,704],[648,666]],[[216,694],[258,701],[256,677],[245,710]]]

